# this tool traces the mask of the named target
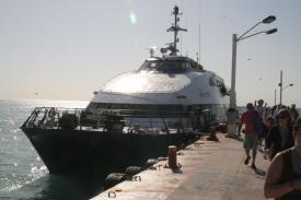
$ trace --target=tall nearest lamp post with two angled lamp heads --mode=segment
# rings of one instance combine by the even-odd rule
[[[269,15],[265,17],[263,21],[256,23],[250,30],[247,30],[244,34],[238,37],[236,34],[232,35],[232,73],[231,73],[231,93],[230,93],[230,108],[228,110],[228,137],[235,138],[236,137],[236,121],[238,121],[238,114],[236,114],[236,91],[235,91],[235,77],[236,77],[236,46],[240,40],[246,39],[248,37],[253,37],[258,34],[274,34],[277,32],[277,28],[256,32],[254,34],[247,35],[252,30],[254,30],[259,24],[269,24],[276,20],[276,16]]]

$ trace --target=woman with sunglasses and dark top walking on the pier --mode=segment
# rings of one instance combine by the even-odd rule
[[[269,150],[269,158],[280,151],[293,145],[292,126],[289,111],[281,108],[278,114],[278,125],[273,127],[266,139],[266,148]]]

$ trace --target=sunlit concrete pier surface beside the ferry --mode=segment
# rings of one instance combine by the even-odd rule
[[[136,180],[126,180],[93,200],[264,200],[265,172],[269,165],[257,153],[257,169],[244,165],[243,142],[218,134],[219,142],[207,137],[182,150],[177,162],[182,167],[171,170],[161,161],[151,169],[137,175]]]

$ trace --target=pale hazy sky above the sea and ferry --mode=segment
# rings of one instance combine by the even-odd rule
[[[172,8],[183,12],[182,54],[196,58],[230,86],[232,34],[267,15],[277,21],[238,46],[238,105],[264,98],[274,105],[283,70],[283,103],[301,106],[299,0],[1,0],[0,98],[89,101],[93,91],[138,69],[150,46],[172,40]]]

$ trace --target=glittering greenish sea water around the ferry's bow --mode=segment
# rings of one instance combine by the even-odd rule
[[[49,175],[30,140],[20,129],[34,107],[83,108],[88,102],[0,99],[0,199],[81,200],[102,190],[102,181]]]

